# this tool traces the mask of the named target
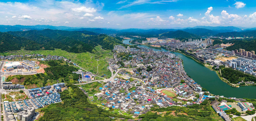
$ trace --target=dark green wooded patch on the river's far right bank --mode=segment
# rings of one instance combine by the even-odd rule
[[[256,82],[256,77],[245,74],[241,71],[237,71],[231,68],[226,68],[224,66],[220,66],[221,75],[223,78],[227,79],[230,83],[238,83],[241,81],[254,81]]]

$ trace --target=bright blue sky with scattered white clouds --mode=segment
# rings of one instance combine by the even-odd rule
[[[1,0],[0,8],[1,25],[256,27],[256,0]]]

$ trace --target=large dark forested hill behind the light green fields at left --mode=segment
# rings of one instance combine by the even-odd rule
[[[25,50],[54,50],[54,48],[60,48],[68,52],[92,52],[95,46],[101,45],[103,49],[113,49],[114,45],[122,44],[121,40],[112,38],[108,35],[102,35],[91,31],[62,31],[62,30],[31,30],[31,31],[9,31],[5,34],[11,34],[19,38],[25,39],[29,42],[36,44],[34,48],[25,48]],[[2,38],[0,38],[2,39]],[[10,39],[10,38],[7,38]],[[19,43],[20,39],[15,40],[15,43]],[[27,43],[27,42],[21,43]],[[30,46],[29,44],[27,46]],[[8,46],[10,47],[10,46]],[[23,45],[19,45],[15,50],[19,50]],[[9,48],[2,50],[1,52],[14,50]]]

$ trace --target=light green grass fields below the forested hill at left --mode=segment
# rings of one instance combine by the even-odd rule
[[[90,71],[93,74],[97,73],[97,65],[98,73],[97,75],[102,76],[106,75],[106,77],[111,77],[111,72],[107,69],[109,66],[107,61],[108,58],[113,58],[113,54],[111,50],[102,50],[101,46],[96,46],[93,53],[83,52],[83,53],[71,53],[61,49],[55,50],[15,50],[10,52],[0,53],[0,55],[12,55],[12,54],[43,54],[43,55],[58,55],[63,56],[68,59],[71,59],[72,62],[76,63],[83,69]],[[98,60],[98,63],[97,63]]]

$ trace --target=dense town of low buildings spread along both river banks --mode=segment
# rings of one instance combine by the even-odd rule
[[[244,73],[255,74],[255,60],[240,54],[239,57],[233,58],[233,60],[222,61],[224,60],[222,57],[233,57],[236,56],[237,52],[223,50],[222,48],[205,48],[212,44],[210,39],[189,39],[186,42],[173,40],[171,42],[156,42],[154,40],[154,42],[154,45],[164,45],[169,50],[173,50],[173,48],[186,50],[186,54],[212,66],[225,65]],[[245,99],[226,98],[207,92],[186,74],[182,60],[172,52],[153,51],[148,48],[129,48],[129,46],[125,48],[122,45],[115,46],[113,52],[114,57],[108,60],[108,69],[112,72],[110,79],[95,80],[93,77],[96,75],[89,71],[83,71],[84,69],[81,68],[72,72],[81,75],[81,78],[78,79],[79,83],[75,85],[82,86],[80,89],[89,97],[89,100],[96,96],[97,103],[104,106],[104,108],[120,109],[131,114],[132,117],[138,117],[146,114],[151,108],[186,107],[201,104],[205,100],[214,100],[211,103],[212,108],[225,121],[231,121],[229,117],[231,114],[227,112],[233,110],[233,108],[239,112],[237,115],[245,115],[247,114],[246,111],[255,110],[253,104],[246,102]],[[244,53],[244,51],[240,53]],[[65,60],[67,63],[79,67],[62,56],[25,55],[26,58],[30,56],[41,61]],[[8,58],[8,60],[2,61],[1,73],[3,75],[42,73],[37,70],[40,69],[37,62],[28,60],[29,58],[20,59],[22,61],[11,61],[16,58],[23,58],[22,55],[1,57],[2,59]],[[218,58],[222,58],[222,60]],[[83,88],[83,85],[87,83],[99,83],[102,86],[96,86],[98,88],[95,90],[99,91],[91,93]],[[36,119],[38,114],[35,109],[61,102],[59,92],[65,89],[65,83],[25,89],[23,85],[2,81],[2,103],[4,104],[6,121]],[[8,92],[8,90],[12,91]],[[21,90],[24,93],[19,92]],[[15,96],[20,95],[23,95],[21,99],[15,98]],[[23,117],[25,119],[22,119]]]

